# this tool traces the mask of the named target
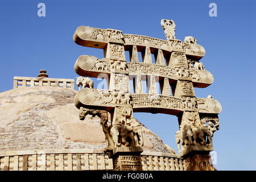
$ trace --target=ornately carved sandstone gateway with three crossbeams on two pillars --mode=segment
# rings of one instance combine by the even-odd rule
[[[178,117],[175,139],[185,168],[178,161],[174,165],[172,160],[171,168],[213,170],[209,152],[213,151],[213,134],[219,130],[218,114],[222,108],[210,95],[196,98],[194,93],[194,87],[206,88],[214,80],[199,62],[205,49],[191,36],[186,36],[184,42],[176,39],[173,20],[162,19],[161,26],[167,40],[123,34],[110,28],[78,27],[73,36],[75,43],[103,49],[104,58],[78,57],[74,65],[80,75],[75,106],[80,109],[81,119],[87,114],[101,118],[108,142],[105,152],[113,158],[115,170],[142,169],[143,135],[141,125],[134,122],[134,111]],[[130,63],[126,63],[125,51],[130,53]],[[138,52],[142,60],[138,59]],[[102,73],[109,82],[107,89],[95,89],[90,77]],[[133,81],[133,94],[129,79]],[[147,79],[148,93],[143,90],[142,79]],[[163,159],[160,166],[163,169]]]

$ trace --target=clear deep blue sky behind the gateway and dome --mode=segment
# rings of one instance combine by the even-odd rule
[[[38,3],[46,16],[38,16]],[[217,17],[209,16],[216,3]],[[51,78],[75,78],[80,55],[103,57],[101,49],[78,46],[78,26],[113,28],[124,34],[164,39],[161,19],[173,19],[175,36],[194,36],[206,49],[201,59],[214,82],[195,88],[222,105],[220,130],[214,133],[218,170],[256,170],[255,50],[256,1],[0,1],[0,92],[13,88],[14,76],[37,77],[46,69]],[[135,113],[134,117],[177,151],[177,117]]]

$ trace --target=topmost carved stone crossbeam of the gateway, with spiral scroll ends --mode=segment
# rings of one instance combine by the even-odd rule
[[[73,36],[74,42],[85,47],[104,49],[107,43],[124,44],[128,50],[131,46],[138,46],[138,51],[144,47],[162,49],[168,52],[185,52],[186,55],[198,60],[205,55],[205,49],[199,44],[190,44],[180,40],[166,41],[142,35],[122,34],[120,30],[101,29],[89,26],[80,26]]]

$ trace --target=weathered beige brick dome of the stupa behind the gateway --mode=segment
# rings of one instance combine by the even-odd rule
[[[84,121],[79,120],[76,93],[55,86],[23,86],[0,93],[0,152],[103,151],[107,141],[100,119],[87,115]],[[143,139],[143,151],[175,154],[145,126]]]

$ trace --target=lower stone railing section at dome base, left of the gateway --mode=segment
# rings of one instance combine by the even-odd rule
[[[113,160],[95,150],[0,152],[0,171],[112,170]]]

